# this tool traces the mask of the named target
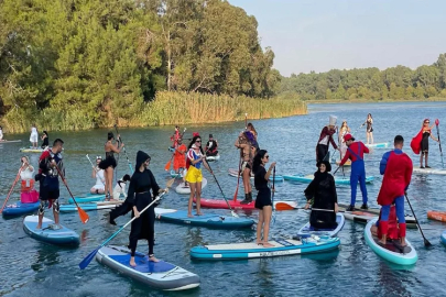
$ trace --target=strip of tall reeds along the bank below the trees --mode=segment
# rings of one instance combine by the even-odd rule
[[[132,107],[133,108],[133,107]],[[64,110],[51,107],[36,114],[12,110],[1,119],[3,131],[26,132],[35,123],[40,131],[73,131],[95,128],[140,128],[174,124],[203,124],[249,120],[284,118],[307,113],[307,106],[297,95],[278,96],[270,99],[246,96],[209,95],[198,92],[160,91],[155,99],[138,107],[140,112],[115,118],[106,108],[98,110],[100,118],[68,107]],[[119,114],[124,114],[126,109]]]

